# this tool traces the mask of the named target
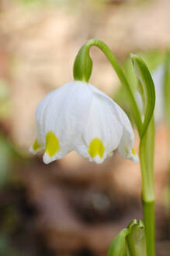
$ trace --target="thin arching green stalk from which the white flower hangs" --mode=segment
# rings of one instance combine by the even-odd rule
[[[130,89],[130,85],[128,84],[127,78],[124,75],[123,70],[120,68],[119,63],[116,61],[116,58],[114,57],[113,52],[109,49],[109,47],[104,42],[98,39],[90,39],[83,45],[82,49],[83,49],[83,52],[85,52],[85,55],[89,55],[89,50],[92,46],[98,47],[106,55],[106,58],[109,60],[110,64],[113,66],[113,69],[116,71],[116,74],[120,79],[120,82],[126,88],[126,92],[130,101],[134,120],[137,125],[137,130],[141,135],[142,133],[141,113],[139,112],[134,95]]]

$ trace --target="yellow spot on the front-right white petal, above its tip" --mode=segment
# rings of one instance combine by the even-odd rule
[[[102,158],[105,151],[105,147],[102,144],[102,141],[98,138],[93,139],[88,147],[88,153],[92,158],[95,158],[96,155],[99,155]]]

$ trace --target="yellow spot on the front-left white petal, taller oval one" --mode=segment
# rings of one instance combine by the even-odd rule
[[[59,140],[53,132],[48,132],[46,135],[46,152],[50,156],[54,156],[60,150]]]

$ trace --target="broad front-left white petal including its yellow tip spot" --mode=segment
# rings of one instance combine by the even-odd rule
[[[37,139],[46,144],[46,148],[52,145],[43,156],[45,163],[63,158],[74,149],[78,134],[84,130],[91,104],[92,91],[79,81],[65,84],[40,101],[36,109]],[[50,142],[47,142],[47,135]],[[56,151],[53,141],[56,141]]]

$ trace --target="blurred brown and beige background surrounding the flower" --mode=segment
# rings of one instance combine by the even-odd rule
[[[170,254],[168,137],[161,73],[170,41],[169,0],[0,1],[0,255],[104,256],[113,237],[142,218],[139,165],[115,152],[102,165],[74,151],[44,165],[29,155],[35,109],[48,91],[73,80],[79,48],[105,41],[127,70],[141,54],[157,90],[155,136],[158,255]],[[92,48],[90,82],[126,108],[106,57]],[[128,109],[127,109],[128,112]],[[135,149],[139,140],[136,133]]]

